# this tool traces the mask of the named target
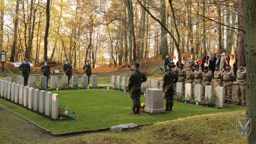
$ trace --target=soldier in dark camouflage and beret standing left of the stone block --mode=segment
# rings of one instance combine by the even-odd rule
[[[146,81],[146,74],[138,69],[139,63],[134,63],[135,70],[130,73],[128,90],[132,99],[132,112],[129,114],[139,114],[141,83]]]

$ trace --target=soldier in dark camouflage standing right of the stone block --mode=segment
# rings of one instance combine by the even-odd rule
[[[165,111],[172,111],[174,102],[174,83],[178,81],[177,74],[171,70],[172,64],[167,64],[167,71],[163,77],[163,90],[165,92],[166,109]]]

